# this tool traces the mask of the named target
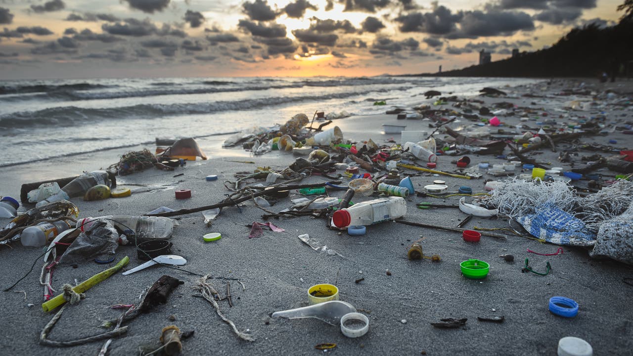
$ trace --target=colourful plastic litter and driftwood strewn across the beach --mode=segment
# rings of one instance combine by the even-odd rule
[[[493,88],[484,88],[482,93],[503,98],[508,96]],[[432,91],[425,95],[432,98],[441,93]],[[561,92],[560,95],[566,94]],[[610,101],[610,105],[631,106],[630,99],[618,96],[612,95],[606,100]],[[484,101],[479,99],[441,97],[433,105],[452,107],[432,109],[429,105],[418,106],[415,118],[398,114],[398,118],[427,120],[432,132],[400,130],[400,142],[385,144],[377,144],[372,139],[346,139],[339,127],[323,130],[331,120],[313,127],[303,113],[294,115],[284,125],[239,132],[229,137],[223,146],[241,144],[242,148],[256,156],[273,150],[289,151],[294,162],[287,167],[257,167],[248,172],[238,172],[234,181],[224,183],[227,198],[204,207],[181,210],[160,207],[153,212],[133,216],[116,215],[115,211],[111,211],[99,217],[80,218],[80,210],[72,202],[80,197],[84,201],[95,201],[132,196],[128,188],[117,189],[116,175],[134,174],[152,166],[161,170],[184,170],[187,160],[196,160],[196,157],[206,160],[206,155],[191,138],[177,141],[157,139],[158,146],[168,147],[159,148],[155,154],[147,149],[126,153],[108,170],[24,184],[20,200],[34,207],[18,212],[20,203],[17,200],[2,198],[0,217],[11,221],[0,231],[0,244],[16,245],[20,241],[23,246],[46,249],[41,269],[46,299],[42,310],[58,311],[42,330],[41,344],[59,347],[107,340],[101,350],[107,351],[112,340],[127,333],[128,326],[123,324],[166,303],[172,290],[184,283],[170,276],[161,276],[144,293],[141,302],[113,306],[123,310],[118,319],[108,322],[110,331],[80,340],[53,341],[48,334],[60,319],[65,304],[80,303],[84,293],[89,293],[92,286],[105,282],[124,269],[130,259],[122,258],[114,267],[83,283],[76,286],[65,284],[60,290],[54,289],[56,286],[51,282],[51,274],[58,265],[80,265],[92,260],[109,264],[115,262],[117,250],[129,251],[130,246],[135,247],[139,265],[123,272],[125,276],[144,269],[158,269],[152,267],[154,265],[168,268],[185,265],[187,259],[172,255],[176,250],[173,246],[178,243],[172,241],[177,240],[172,239],[172,234],[179,223],[170,218],[202,213],[206,226],[213,227],[213,222],[222,218],[223,208],[240,208],[239,204],[247,201],[263,210],[261,217],[264,221],[282,221],[248,224],[251,229],[248,238],[251,239],[284,232],[285,229],[277,226],[283,226],[283,219],[321,219],[323,229],[345,231],[349,236],[369,235],[373,225],[394,221],[454,232],[465,243],[480,243],[482,236],[503,240],[510,234],[555,245],[579,246],[588,248],[591,257],[607,257],[633,265],[633,184],[629,182],[633,175],[633,151],[629,150],[630,147],[616,148],[581,141],[614,130],[628,134],[630,124],[611,127],[604,114],[587,112],[601,110],[604,104],[595,100],[572,100],[567,108],[558,112],[522,107],[507,101],[494,103],[492,108],[483,104]],[[374,105],[386,103],[377,101]],[[318,114],[325,120],[323,113]],[[521,124],[506,125],[504,118],[512,116],[519,117]],[[573,168],[551,167],[555,163],[541,160],[539,150],[560,152],[560,162],[569,165],[573,161]],[[579,157],[586,151],[591,155]],[[611,176],[614,172],[617,174]],[[309,177],[319,182],[301,182]],[[217,179],[217,175],[206,177],[207,181]],[[451,190],[450,183],[443,179],[460,179],[464,183],[457,190]],[[178,189],[175,198],[191,198],[191,190]],[[415,202],[415,205],[410,202]],[[284,208],[280,210],[278,207],[282,205]],[[464,219],[457,226],[414,220],[410,219],[412,207],[420,210],[458,209],[464,213]],[[463,228],[472,217],[506,217],[510,225],[491,229]],[[331,246],[320,242],[323,240],[317,236],[313,231],[302,231],[297,237],[300,243],[317,253],[344,258]],[[222,234],[211,232],[200,238],[213,243],[220,240]],[[422,240],[413,241],[403,257],[411,261],[427,259],[442,263],[441,251],[424,251]],[[306,248],[306,251],[309,250]],[[550,255],[561,253],[563,250],[559,248]],[[511,254],[499,257],[509,263],[515,259]],[[469,258],[460,263],[459,272],[467,279],[484,279],[491,273],[489,262],[485,261],[489,258],[498,257],[487,256],[483,260]],[[521,271],[546,276],[555,268],[548,262],[544,272],[539,272],[530,267],[529,260],[525,258]],[[386,272],[391,274],[389,270]],[[222,312],[224,300],[229,307],[233,306],[230,281],[226,282],[226,293],[220,293],[213,285],[216,279],[206,274],[200,276],[203,277],[193,283],[194,295],[210,303],[237,338],[254,341],[248,330],[242,331]],[[362,281],[358,279],[356,283]],[[242,284],[239,279],[233,282]],[[335,284],[316,284],[306,291],[308,306],[273,312],[272,317],[319,319],[340,327],[341,333],[348,338],[367,334],[370,330],[367,315],[339,298],[341,295]],[[549,305],[551,312],[563,317],[577,314],[578,305],[573,300],[556,301]],[[565,303],[567,306],[561,307]],[[480,322],[504,321],[504,317],[477,319]],[[466,323],[466,318],[448,318],[431,324],[439,328],[453,328],[465,327]],[[163,352],[166,355],[182,352],[181,338],[189,336],[192,332],[182,332],[175,325],[163,328],[160,334]],[[327,350],[335,346],[327,343],[316,348]]]

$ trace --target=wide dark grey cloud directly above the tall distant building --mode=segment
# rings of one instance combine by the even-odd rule
[[[514,11],[467,11],[460,26],[466,37],[511,35],[519,30],[534,30],[530,15]]]

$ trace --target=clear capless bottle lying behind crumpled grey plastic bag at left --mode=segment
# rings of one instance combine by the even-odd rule
[[[77,228],[81,231],[90,229],[92,222],[104,219],[123,231],[130,241],[139,239],[168,239],[172,236],[173,220],[167,217],[107,215],[103,217],[87,217],[77,221]],[[130,231],[131,230],[131,231]],[[134,236],[130,236],[134,234]]]

